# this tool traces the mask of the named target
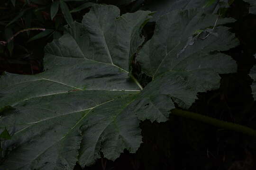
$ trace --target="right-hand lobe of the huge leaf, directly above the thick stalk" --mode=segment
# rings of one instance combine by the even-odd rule
[[[236,72],[235,60],[219,52],[238,45],[235,35],[219,26],[229,22],[234,19],[196,9],[174,10],[156,22],[137,56],[142,71],[153,77],[133,103],[141,120],[167,120],[172,101],[188,109],[198,92],[219,88],[219,74]]]

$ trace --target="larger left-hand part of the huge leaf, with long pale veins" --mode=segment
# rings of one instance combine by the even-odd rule
[[[143,42],[149,11],[119,16],[94,6],[82,23],[45,48],[45,72],[0,77],[2,170],[73,170],[101,157],[119,157],[141,143],[139,120],[127,107],[140,91],[129,62]]]

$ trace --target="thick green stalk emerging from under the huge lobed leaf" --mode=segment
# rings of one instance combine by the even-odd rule
[[[190,111],[185,111],[185,110],[180,110],[180,109],[171,110],[171,114],[181,116],[183,118],[201,121],[203,123],[210,124],[210,125],[213,125],[216,127],[234,130],[236,132],[241,132],[243,134],[256,137],[256,130],[246,127],[246,126],[238,125],[235,123],[226,122],[226,121],[222,121],[222,120],[215,119],[215,118],[210,118],[208,116],[204,116],[204,115],[201,115],[198,113],[193,113]]]

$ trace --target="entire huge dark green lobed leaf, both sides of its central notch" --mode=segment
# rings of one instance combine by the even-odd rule
[[[0,170],[72,170],[101,153],[110,160],[125,148],[134,153],[139,119],[165,121],[172,100],[188,108],[197,92],[219,87],[219,73],[236,71],[235,61],[219,52],[237,45],[219,26],[232,19],[173,11],[138,55],[153,77],[140,93],[130,63],[149,14],[119,16],[114,6],[94,6],[46,46],[45,72],[0,77],[0,133],[11,135],[1,143]]]

